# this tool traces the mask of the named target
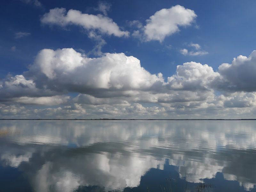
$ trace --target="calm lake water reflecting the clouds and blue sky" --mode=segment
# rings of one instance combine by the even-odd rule
[[[256,121],[1,120],[0,157],[0,191],[256,191]]]

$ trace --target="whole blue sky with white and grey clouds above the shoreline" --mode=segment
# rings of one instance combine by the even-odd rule
[[[0,118],[255,118],[253,0],[1,3]]]

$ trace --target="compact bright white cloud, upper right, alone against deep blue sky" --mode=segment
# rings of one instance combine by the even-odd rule
[[[161,9],[146,20],[147,24],[143,28],[146,41],[164,41],[166,36],[178,32],[179,27],[191,25],[196,19],[193,10],[176,5],[169,9]],[[138,33],[138,32],[137,32]]]

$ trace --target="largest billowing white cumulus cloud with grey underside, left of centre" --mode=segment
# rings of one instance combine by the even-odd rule
[[[150,74],[140,66],[140,60],[124,53],[106,53],[100,58],[88,58],[72,48],[40,51],[26,75],[54,91],[94,95],[97,90],[101,90],[100,94],[106,92],[109,95],[146,90],[164,81],[161,74]],[[114,90],[120,92],[115,93]]]

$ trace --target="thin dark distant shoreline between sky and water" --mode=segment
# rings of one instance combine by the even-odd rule
[[[78,121],[255,121],[256,119],[0,119],[0,120],[78,120]]]

